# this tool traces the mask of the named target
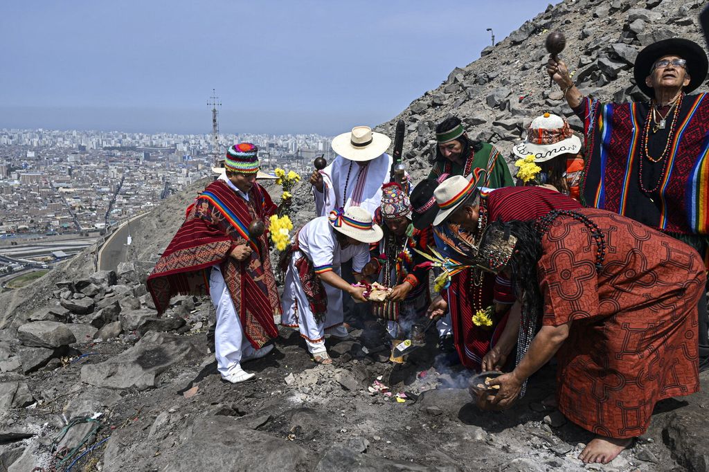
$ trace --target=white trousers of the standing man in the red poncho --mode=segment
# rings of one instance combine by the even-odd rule
[[[253,355],[255,349],[243,335],[241,320],[218,266],[212,267],[209,276],[209,295],[217,310],[214,356],[217,359],[219,373],[227,376],[231,369],[240,367],[242,356]]]

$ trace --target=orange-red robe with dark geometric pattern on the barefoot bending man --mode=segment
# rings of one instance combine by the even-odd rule
[[[577,212],[605,235],[601,272],[588,228],[564,215],[542,237],[537,266],[542,324],[572,322],[557,353],[559,410],[596,434],[637,437],[659,400],[699,390],[705,267],[694,249],[635,220]]]

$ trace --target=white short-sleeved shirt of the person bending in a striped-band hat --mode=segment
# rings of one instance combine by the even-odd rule
[[[298,247],[313,262],[316,273],[338,269],[350,259],[352,270],[361,272],[369,262],[369,245],[362,242],[342,248],[327,216],[310,220],[298,231]]]

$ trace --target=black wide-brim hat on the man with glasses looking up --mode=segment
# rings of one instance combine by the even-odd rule
[[[652,73],[652,65],[663,56],[679,56],[687,61],[687,72],[690,76],[689,85],[684,87],[684,91],[689,94],[698,88],[707,77],[709,62],[706,52],[694,41],[684,38],[670,38],[652,43],[638,52],[635,59],[635,84],[642,90],[642,93],[654,98],[655,93],[652,87],[645,84],[645,78]]]

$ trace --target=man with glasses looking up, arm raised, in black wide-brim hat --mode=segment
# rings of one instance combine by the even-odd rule
[[[682,38],[653,43],[635,60],[648,101],[600,103],[581,95],[563,61],[547,72],[584,122],[581,197],[685,242],[709,264],[709,95],[691,94],[707,77],[707,55]],[[699,299],[700,370],[709,369],[706,298]]]

